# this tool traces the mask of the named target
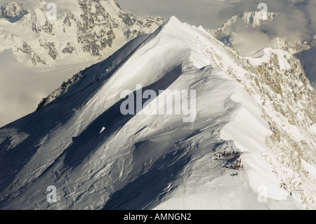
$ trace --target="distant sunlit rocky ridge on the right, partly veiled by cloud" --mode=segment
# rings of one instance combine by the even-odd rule
[[[269,29],[267,29],[265,25],[267,22],[272,22],[276,16],[277,13],[268,13],[268,20],[265,21],[258,20],[258,12],[240,13],[239,15],[235,15],[230,18],[230,20],[228,20],[228,22],[226,22],[222,27],[218,29],[207,29],[207,31],[212,34],[213,37],[223,42],[225,46],[235,47],[239,44],[239,34],[242,33],[242,30],[248,29],[252,30],[251,32],[253,33],[258,32],[258,34],[269,34]],[[249,32],[249,34],[251,34],[251,32]],[[256,37],[257,36],[254,38]],[[263,36],[258,35],[258,37],[262,38]],[[266,41],[265,44],[258,44],[260,39],[256,39],[252,44],[258,44],[258,46],[261,46],[262,48],[270,47],[273,49],[281,49],[289,52],[291,55],[295,55],[301,61],[306,77],[308,77],[310,83],[315,88],[316,70],[314,61],[316,34],[310,41],[289,41],[284,37],[265,37],[266,39],[263,38],[263,41]],[[246,41],[242,44],[242,48],[251,47],[253,47],[253,45],[249,44],[249,46],[247,46]],[[238,50],[239,49],[237,49],[237,51]]]

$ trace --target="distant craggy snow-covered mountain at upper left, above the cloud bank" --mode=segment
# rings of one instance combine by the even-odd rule
[[[97,62],[140,34],[154,32],[162,18],[136,18],[113,0],[49,1],[34,6],[11,2],[0,8],[2,50],[13,48],[31,66],[50,66],[78,58]]]

